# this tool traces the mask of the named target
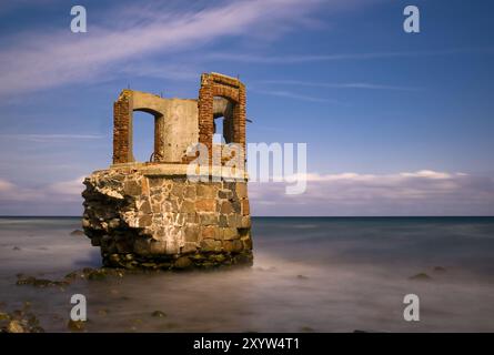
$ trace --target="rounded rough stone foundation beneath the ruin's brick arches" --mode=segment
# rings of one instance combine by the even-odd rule
[[[252,264],[246,179],[193,182],[185,168],[120,164],[84,180],[82,225],[105,266]]]

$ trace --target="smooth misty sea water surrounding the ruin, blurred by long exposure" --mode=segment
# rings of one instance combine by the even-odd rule
[[[0,219],[3,308],[29,301],[52,332],[67,331],[74,293],[88,298],[90,332],[494,331],[493,217],[259,217],[251,268],[16,285],[18,273],[100,266],[75,229],[79,219]],[[432,280],[409,280],[420,272]],[[409,293],[421,298],[417,323],[403,321]]]

